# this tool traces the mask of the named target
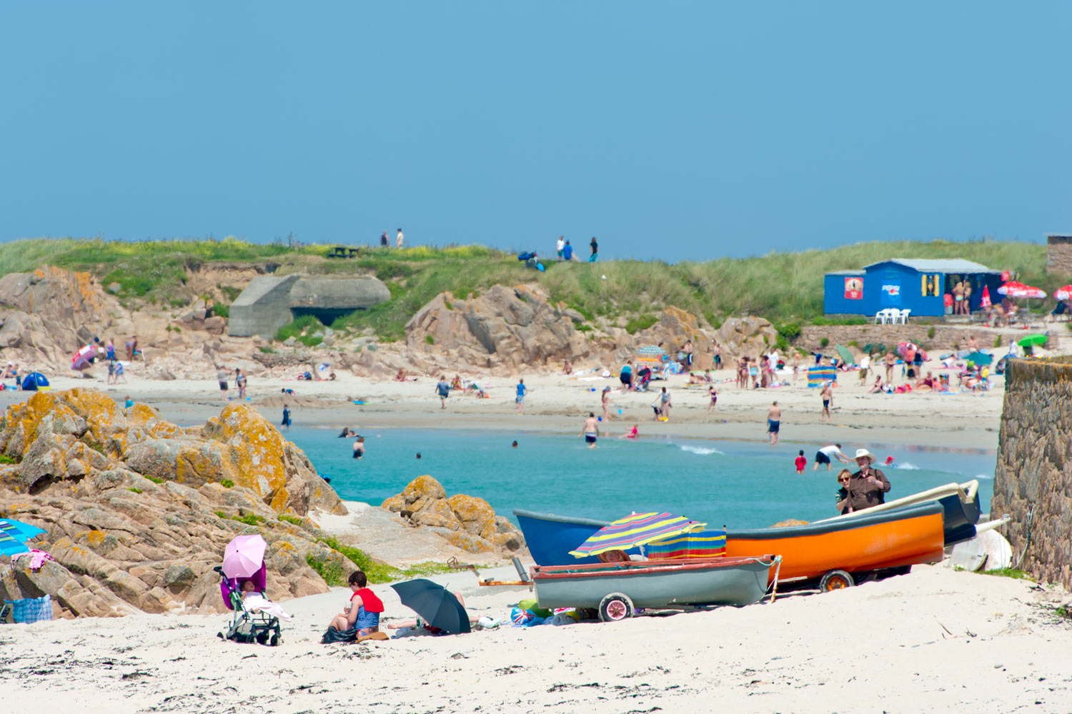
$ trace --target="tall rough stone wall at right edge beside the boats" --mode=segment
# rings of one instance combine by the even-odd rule
[[[1013,360],[1004,377],[991,514],[1012,516],[1015,566],[1072,589],[1072,358]]]

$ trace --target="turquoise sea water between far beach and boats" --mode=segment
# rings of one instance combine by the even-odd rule
[[[760,528],[787,518],[818,520],[837,515],[833,471],[812,470],[822,444],[647,439],[600,439],[586,449],[576,437],[525,432],[372,429],[364,458],[352,458],[352,439],[338,431],[294,427],[285,436],[309,456],[317,472],[346,500],[374,505],[410,481],[431,474],[448,495],[478,496],[500,515],[513,508],[613,520],[632,512],[668,511],[712,526]],[[518,447],[510,442],[518,440]],[[887,500],[950,482],[980,478],[983,511],[989,508],[996,453],[865,445],[900,468],[883,469],[893,490]],[[851,455],[857,444],[845,444]],[[808,468],[798,475],[803,449]],[[421,458],[416,458],[420,452]]]

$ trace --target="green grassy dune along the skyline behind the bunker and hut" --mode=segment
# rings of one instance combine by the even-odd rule
[[[104,284],[122,286],[131,300],[181,303],[187,267],[214,260],[280,264],[278,274],[372,274],[391,289],[391,300],[341,318],[338,329],[373,328],[382,339],[398,339],[406,320],[445,290],[459,298],[495,284],[538,283],[552,300],[564,301],[589,319],[644,321],[676,305],[710,322],[749,313],[773,322],[808,322],[822,315],[822,275],[861,268],[888,258],[967,258],[996,270],[1021,273],[1021,279],[1048,292],[1069,275],[1047,273],[1046,248],[1037,243],[981,241],[953,243],[874,242],[829,250],[772,253],[759,258],[720,258],[668,264],[614,260],[547,264],[525,269],[512,254],[483,246],[366,248],[354,259],[326,259],[329,246],[291,249],[280,244],[221,241],[27,240],[0,245],[0,270],[27,271],[42,263],[88,270]]]

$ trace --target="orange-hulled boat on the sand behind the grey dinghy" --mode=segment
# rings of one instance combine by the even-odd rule
[[[940,561],[946,545],[942,513],[940,503],[929,501],[805,526],[729,531],[726,556],[777,553],[779,582],[819,579],[821,590],[836,590]]]

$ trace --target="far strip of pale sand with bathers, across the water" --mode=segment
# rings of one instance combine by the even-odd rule
[[[935,363],[932,363],[932,368]],[[896,383],[904,381],[897,366]],[[616,370],[615,370],[616,371]],[[936,370],[937,374],[937,370]],[[611,386],[611,423],[605,434],[617,436],[632,424],[640,426],[641,438],[656,435],[703,439],[766,439],[766,410],[774,400],[783,409],[781,440],[792,442],[830,441],[866,444],[920,444],[933,446],[970,446],[995,449],[1001,413],[1002,379],[993,376],[989,392],[964,391],[958,394],[912,392],[909,394],[867,394],[858,373],[839,378],[835,390],[833,422],[819,423],[821,405],[818,390],[807,389],[803,377],[789,386],[765,390],[738,389],[732,371],[712,373],[718,389],[718,406],[706,413],[704,385],[686,385],[687,377],[673,375],[667,381],[653,382],[656,391],[667,386],[673,408],[668,423],[652,421],[654,393],[619,392],[615,377],[602,378],[585,371],[564,376],[553,371],[520,375],[462,375],[485,385],[489,398],[473,394],[451,395],[448,408],[440,409],[434,394],[437,376],[417,381],[371,380],[340,373],[336,381],[297,381],[284,377],[251,377],[249,404],[267,419],[279,423],[282,405],[291,405],[295,424],[341,428],[428,427],[453,429],[518,429],[576,434],[587,413],[600,413],[600,392]],[[447,379],[453,375],[448,374]],[[516,413],[515,385],[519,377],[528,388],[524,414]],[[874,373],[873,373],[874,377]],[[873,380],[872,377],[872,380]],[[869,380],[869,381],[872,381]],[[212,380],[144,380],[132,370],[130,383],[106,385],[104,380],[59,377],[53,389],[92,386],[106,391],[120,404],[126,395],[135,401],[159,407],[166,419],[180,425],[200,424],[219,413],[227,404]],[[953,382],[955,384],[955,377]],[[281,392],[295,391],[294,395]],[[593,391],[594,390],[594,391]],[[237,399],[232,384],[228,395]],[[0,405],[25,400],[20,392],[0,393]],[[363,405],[354,405],[354,400]],[[621,409],[622,413],[617,411]],[[851,436],[849,436],[851,435]]]

